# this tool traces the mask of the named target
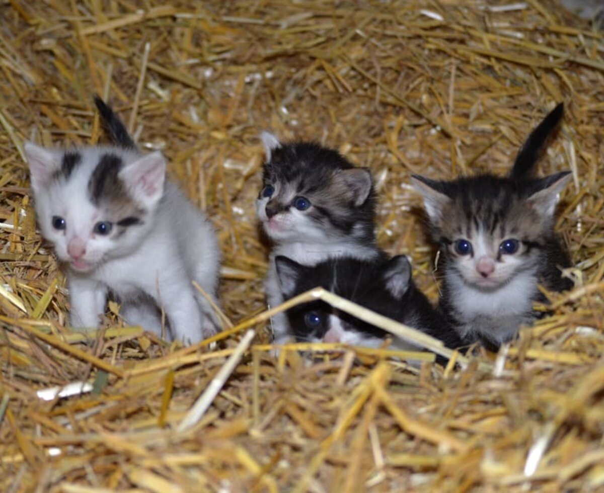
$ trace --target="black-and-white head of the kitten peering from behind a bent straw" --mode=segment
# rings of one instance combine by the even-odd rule
[[[277,256],[275,264],[286,300],[323,287],[376,313],[411,322],[405,320],[402,312],[413,310],[414,307],[406,306],[406,294],[416,288],[411,281],[411,266],[403,255],[389,261],[340,257],[314,267]],[[323,301],[297,305],[287,311],[287,316],[298,342],[342,342],[376,348],[388,336],[388,332]]]

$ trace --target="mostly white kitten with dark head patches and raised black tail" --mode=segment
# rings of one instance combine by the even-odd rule
[[[66,266],[71,324],[98,326],[111,293],[133,325],[160,334],[161,306],[174,339],[211,336],[216,319],[191,281],[215,299],[214,229],[165,179],[164,156],[141,154],[111,108],[95,103],[115,145],[25,144],[42,236]]]

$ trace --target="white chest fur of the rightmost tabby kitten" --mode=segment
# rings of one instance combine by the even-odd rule
[[[506,342],[520,325],[536,318],[532,306],[539,295],[536,272],[536,267],[519,272],[494,291],[469,286],[460,275],[449,272],[441,306],[457,322],[457,331],[464,339],[473,342],[483,336],[496,343]]]

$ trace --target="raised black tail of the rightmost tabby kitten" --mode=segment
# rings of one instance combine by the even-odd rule
[[[518,156],[516,156],[512,171],[510,171],[512,180],[526,179],[533,174],[535,164],[546,147],[551,134],[560,123],[563,114],[564,103],[559,103],[530,133],[518,151]]]

